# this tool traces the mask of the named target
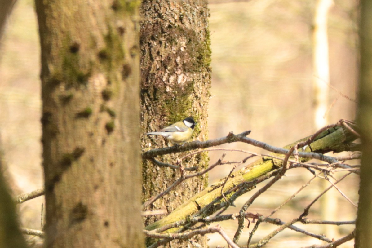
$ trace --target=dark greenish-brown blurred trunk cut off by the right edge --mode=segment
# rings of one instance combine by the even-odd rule
[[[360,1],[360,74],[357,122],[362,140],[355,247],[372,246],[372,1]]]

